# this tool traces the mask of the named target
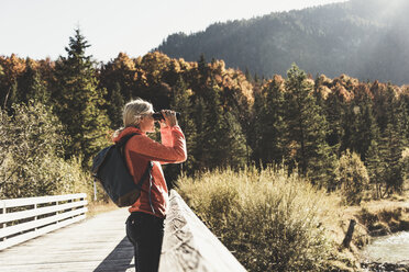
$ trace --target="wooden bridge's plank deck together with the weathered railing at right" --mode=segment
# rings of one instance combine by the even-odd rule
[[[2,215],[4,213],[0,214],[0,223]],[[5,248],[0,251],[0,271],[134,271],[133,247],[125,237],[128,215],[126,208],[119,208]],[[172,191],[159,271],[230,272],[245,269],[177,192]]]

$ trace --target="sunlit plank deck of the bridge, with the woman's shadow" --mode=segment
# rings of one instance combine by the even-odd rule
[[[126,208],[97,215],[0,251],[1,272],[130,272]]]

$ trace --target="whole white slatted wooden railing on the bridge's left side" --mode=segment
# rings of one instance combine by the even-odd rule
[[[0,200],[0,250],[79,222],[87,194]]]

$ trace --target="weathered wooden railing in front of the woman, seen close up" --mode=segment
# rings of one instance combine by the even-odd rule
[[[170,191],[159,263],[159,272],[165,271],[246,271],[175,190]]]

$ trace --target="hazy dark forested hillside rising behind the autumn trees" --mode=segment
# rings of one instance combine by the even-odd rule
[[[158,50],[196,61],[223,59],[259,77],[286,76],[296,63],[312,76],[409,83],[407,0],[351,0],[169,35]]]

